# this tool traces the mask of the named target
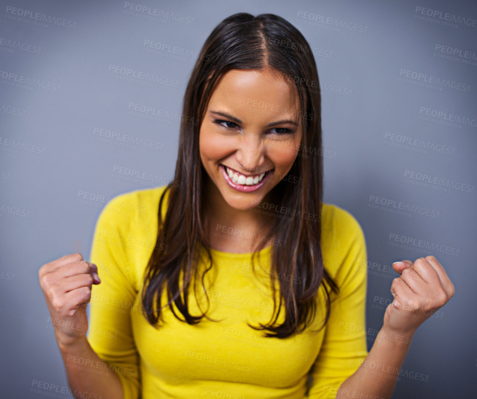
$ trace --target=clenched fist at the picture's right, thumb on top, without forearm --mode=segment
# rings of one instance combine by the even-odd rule
[[[446,305],[456,292],[446,271],[432,256],[393,263],[401,276],[393,280],[394,301],[386,308],[383,327],[401,335],[413,335],[417,327]]]

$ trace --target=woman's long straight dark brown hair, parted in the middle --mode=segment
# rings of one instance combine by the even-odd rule
[[[199,155],[200,125],[207,101],[221,75],[231,69],[271,68],[280,72],[285,81],[298,89],[301,110],[306,112],[302,111],[300,115],[303,134],[299,156],[288,173],[289,178],[280,179],[271,190],[279,206],[296,210],[293,212],[296,213],[294,217],[276,218],[273,225],[275,237],[287,243],[285,247],[275,246],[271,254],[273,314],[268,324],[249,326],[269,330],[270,333],[265,334],[268,337],[283,338],[303,331],[315,318],[314,298],[322,284],[327,305],[322,328],[330,315],[330,290],[335,293],[339,290],[326,272],[321,256],[321,95],[318,71],[310,45],[300,31],[277,15],[260,14],[254,17],[240,12],[218,24],[207,37],[200,54],[187,84],[183,120],[180,124],[174,181],[184,184],[181,187],[175,183],[168,184],[159,200],[157,242],[144,275],[143,305],[145,309],[153,309],[154,304],[157,306],[156,312],[147,313],[147,320],[157,328],[158,321],[162,320],[161,309],[166,306],[169,306],[177,319],[191,325],[199,323],[202,317],[212,320],[207,316],[207,310],[202,315],[191,315],[188,309],[189,288],[193,278],[196,294],[197,248],[203,246],[206,249],[210,262],[201,276],[206,297],[204,276],[212,268],[205,228],[207,223],[203,216],[203,184],[207,172]],[[290,178],[295,182],[291,189]],[[169,195],[166,204],[167,192]],[[163,206],[167,207],[164,220]],[[301,216],[306,213],[315,215],[311,218],[313,220]],[[264,244],[265,242],[253,252],[252,264],[253,257]],[[255,273],[255,268],[252,269]],[[181,271],[182,287],[179,285]],[[280,275],[290,276],[290,280],[278,279],[280,304],[277,310],[275,278]],[[302,281],[303,284],[293,283],[293,280]],[[168,302],[161,306],[165,285]],[[277,324],[282,301],[285,318],[282,324]],[[173,302],[184,319],[176,314]]]

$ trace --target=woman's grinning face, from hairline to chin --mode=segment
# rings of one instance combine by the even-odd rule
[[[229,206],[255,207],[290,171],[301,142],[300,115],[298,91],[280,73],[222,75],[200,126],[199,149]]]

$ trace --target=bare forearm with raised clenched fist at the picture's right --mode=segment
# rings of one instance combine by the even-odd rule
[[[356,397],[366,392],[391,398],[416,329],[455,293],[444,268],[432,255],[415,263],[394,263],[393,267],[401,276],[391,285],[394,301],[386,308],[383,327],[364,362],[342,383],[336,399],[354,398],[354,392]]]

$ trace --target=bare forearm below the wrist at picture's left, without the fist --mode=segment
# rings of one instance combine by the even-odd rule
[[[121,381],[114,371],[107,371],[109,365],[96,355],[86,337],[68,345],[58,343],[58,347],[75,398],[123,399]]]

